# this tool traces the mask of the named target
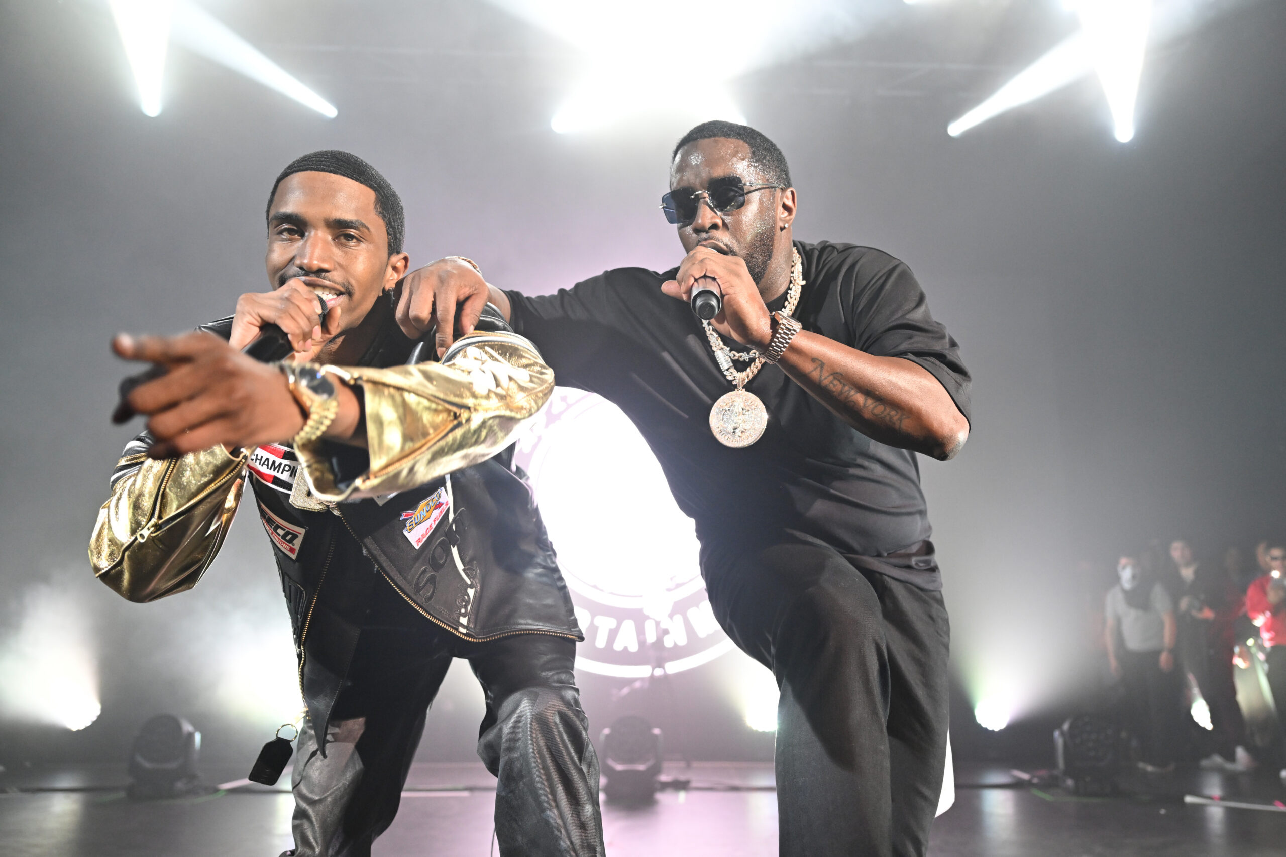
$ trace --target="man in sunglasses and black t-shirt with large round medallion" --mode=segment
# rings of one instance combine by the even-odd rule
[[[530,298],[442,260],[412,275],[399,322],[436,322],[441,349],[490,301],[559,384],[639,428],[696,520],[715,615],[781,687],[783,857],[923,854],[949,628],[914,454],[964,443],[968,371],[905,265],[792,240],[786,159],[754,128],[689,131],[670,188],[676,269]],[[705,329],[694,287],[721,296]]]

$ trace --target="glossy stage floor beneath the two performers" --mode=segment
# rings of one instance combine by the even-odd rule
[[[239,770],[203,767],[207,782]],[[692,780],[656,803],[604,803],[611,857],[769,857],[777,853],[777,795],[769,764],[670,764]],[[132,803],[123,766],[0,775],[0,853],[6,857],[276,857],[291,845],[289,793],[261,786]],[[283,784],[285,780],[283,779]],[[485,857],[491,848],[494,779],[480,764],[417,764],[381,857]],[[934,829],[934,857],[1165,854],[1251,857],[1286,853],[1286,812],[1183,803],[1183,794],[1286,803],[1274,776],[1192,773],[1130,779],[1128,794],[1076,799],[1016,786],[1003,768],[959,766],[955,806]],[[37,790],[42,789],[42,790]]]

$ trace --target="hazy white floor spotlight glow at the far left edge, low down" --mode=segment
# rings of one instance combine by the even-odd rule
[[[28,592],[0,654],[0,703],[13,716],[80,731],[98,720],[98,658],[89,618],[54,587]]]

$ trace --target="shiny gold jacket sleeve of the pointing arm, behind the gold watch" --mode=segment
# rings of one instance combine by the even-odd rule
[[[296,450],[312,493],[332,502],[406,491],[486,461],[554,389],[535,346],[508,331],[464,337],[440,364],[343,373],[364,393],[369,469],[341,488],[324,441]]]

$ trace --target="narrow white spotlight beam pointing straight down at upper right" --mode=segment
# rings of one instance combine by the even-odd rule
[[[1116,139],[1134,137],[1134,102],[1143,72],[1152,0],[1080,0],[1076,14],[1089,60],[1112,112]]]

